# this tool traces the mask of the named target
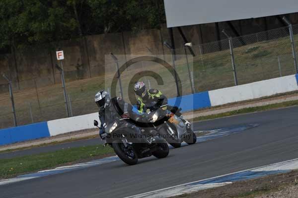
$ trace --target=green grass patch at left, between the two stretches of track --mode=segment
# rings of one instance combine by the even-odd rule
[[[54,152],[11,159],[0,159],[0,178],[10,178],[15,175],[35,172],[46,168],[54,168],[66,163],[100,158],[101,156],[113,153],[114,151],[110,146],[103,147],[102,145],[95,145],[64,148]]]

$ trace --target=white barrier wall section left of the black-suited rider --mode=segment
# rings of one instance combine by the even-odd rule
[[[93,125],[93,120],[97,120],[99,125],[98,113],[75,116],[71,118],[63,118],[59,120],[48,121],[48,128],[51,136],[75,132],[85,129],[96,128]]]

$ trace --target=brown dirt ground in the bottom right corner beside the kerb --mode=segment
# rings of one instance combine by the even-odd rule
[[[298,170],[172,198],[298,198]]]

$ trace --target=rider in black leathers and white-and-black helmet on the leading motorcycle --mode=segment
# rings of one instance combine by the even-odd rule
[[[99,111],[100,130],[99,135],[102,139],[105,139],[106,133],[105,128],[107,125],[115,121],[116,118],[131,118],[134,121],[138,121],[141,116],[133,112],[132,105],[124,102],[119,97],[110,99],[108,92],[99,91],[95,95],[95,103],[97,104]],[[127,123],[127,126],[137,134],[141,134],[141,130],[136,126]]]

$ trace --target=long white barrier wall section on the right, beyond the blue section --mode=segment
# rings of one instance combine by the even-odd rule
[[[296,90],[298,90],[296,75],[289,75],[209,91],[209,97],[211,106],[218,106]]]

